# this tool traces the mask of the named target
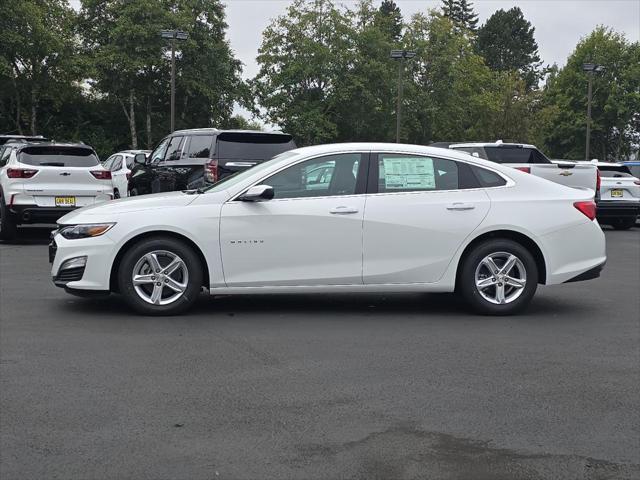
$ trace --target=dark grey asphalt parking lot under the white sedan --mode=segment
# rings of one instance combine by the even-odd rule
[[[640,478],[640,228],[510,318],[453,295],[132,315],[0,245],[0,478]]]

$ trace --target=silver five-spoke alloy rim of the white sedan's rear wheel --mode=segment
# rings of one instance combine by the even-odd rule
[[[475,285],[486,301],[504,305],[522,295],[527,285],[527,271],[516,255],[509,252],[491,253],[476,267]]]

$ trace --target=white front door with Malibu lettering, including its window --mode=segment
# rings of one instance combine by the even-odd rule
[[[319,166],[332,169],[318,188]],[[362,219],[367,153],[298,162],[260,182],[262,202],[232,199],[222,207],[220,245],[230,287],[362,284]]]

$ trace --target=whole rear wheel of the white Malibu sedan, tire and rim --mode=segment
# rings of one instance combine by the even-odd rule
[[[519,243],[488,240],[464,258],[458,287],[476,312],[511,315],[533,298],[538,267],[533,255]]]

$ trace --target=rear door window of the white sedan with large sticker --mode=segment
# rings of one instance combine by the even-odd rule
[[[378,192],[420,192],[432,190],[457,190],[470,188],[465,179],[461,182],[465,164],[453,160],[384,153],[378,155]],[[466,176],[466,175],[465,175]]]

